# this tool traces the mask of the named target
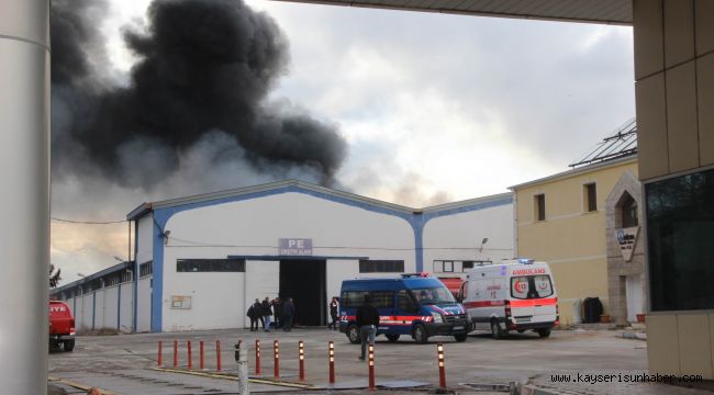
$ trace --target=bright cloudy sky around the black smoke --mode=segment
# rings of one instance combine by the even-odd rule
[[[507,192],[567,170],[635,114],[631,27],[246,2],[289,42],[269,100],[336,126],[348,150],[335,178],[357,194],[423,207]],[[113,0],[105,11],[104,72],[118,83],[136,61],[121,30],[141,29],[148,3]],[[186,194],[171,185],[66,177],[53,183],[53,217],[121,221],[142,202]],[[60,285],[125,259],[127,239],[126,223],[53,221]]]

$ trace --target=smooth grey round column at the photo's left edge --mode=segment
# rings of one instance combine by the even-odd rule
[[[47,393],[49,5],[0,0],[0,383]]]

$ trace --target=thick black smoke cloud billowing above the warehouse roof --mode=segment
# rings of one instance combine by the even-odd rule
[[[289,61],[267,14],[242,0],[156,0],[145,29],[123,32],[138,60],[122,84],[107,77],[98,29],[107,9],[52,2],[53,178],[149,191],[201,153],[202,169],[232,174],[222,188],[241,174],[335,182],[347,150],[336,126],[267,101]]]

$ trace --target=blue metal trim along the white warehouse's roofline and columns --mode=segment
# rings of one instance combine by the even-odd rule
[[[466,213],[470,211],[477,211],[477,210],[488,208],[492,206],[510,204],[513,201],[512,198],[506,198],[506,199],[492,201],[492,202],[477,203],[465,207],[431,212],[427,214],[422,214],[422,213],[409,214],[397,210],[387,208],[383,206],[372,205],[365,202],[356,202],[354,200],[342,198],[342,196],[335,196],[326,193],[321,193],[317,191],[305,190],[297,185],[288,185],[283,188],[277,188],[270,191],[261,191],[261,192],[247,193],[237,196],[228,196],[228,198],[215,199],[210,201],[194,202],[194,203],[189,203],[183,205],[156,208],[154,210],[154,216],[153,216],[154,219],[154,226],[153,226],[154,286],[152,290],[153,291],[152,292],[152,331],[153,332],[159,332],[163,330],[161,321],[163,321],[163,307],[164,307],[163,306],[164,229],[169,218],[174,216],[174,214],[192,210],[192,208],[207,207],[207,206],[224,204],[230,202],[239,202],[239,201],[253,200],[258,198],[279,195],[283,193],[302,193],[309,196],[313,196],[313,198],[317,198],[317,199],[322,199],[335,203],[341,203],[353,207],[359,207],[373,213],[392,215],[406,221],[406,223],[410,224],[412,230],[414,232],[414,262],[416,266],[416,271],[422,271],[424,268],[423,232],[424,232],[424,226],[429,219],[439,216],[454,215],[458,213]]]

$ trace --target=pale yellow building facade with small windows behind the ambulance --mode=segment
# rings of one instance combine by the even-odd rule
[[[631,270],[616,266],[622,260],[616,211],[624,201],[636,211],[642,206],[631,188],[637,183],[636,174],[637,158],[629,155],[512,187],[516,253],[550,264],[562,325],[582,316],[580,303],[585,297],[599,297],[604,314],[617,323],[645,312],[642,246],[637,245],[636,269],[631,263]],[[626,187],[632,202],[624,198]]]

